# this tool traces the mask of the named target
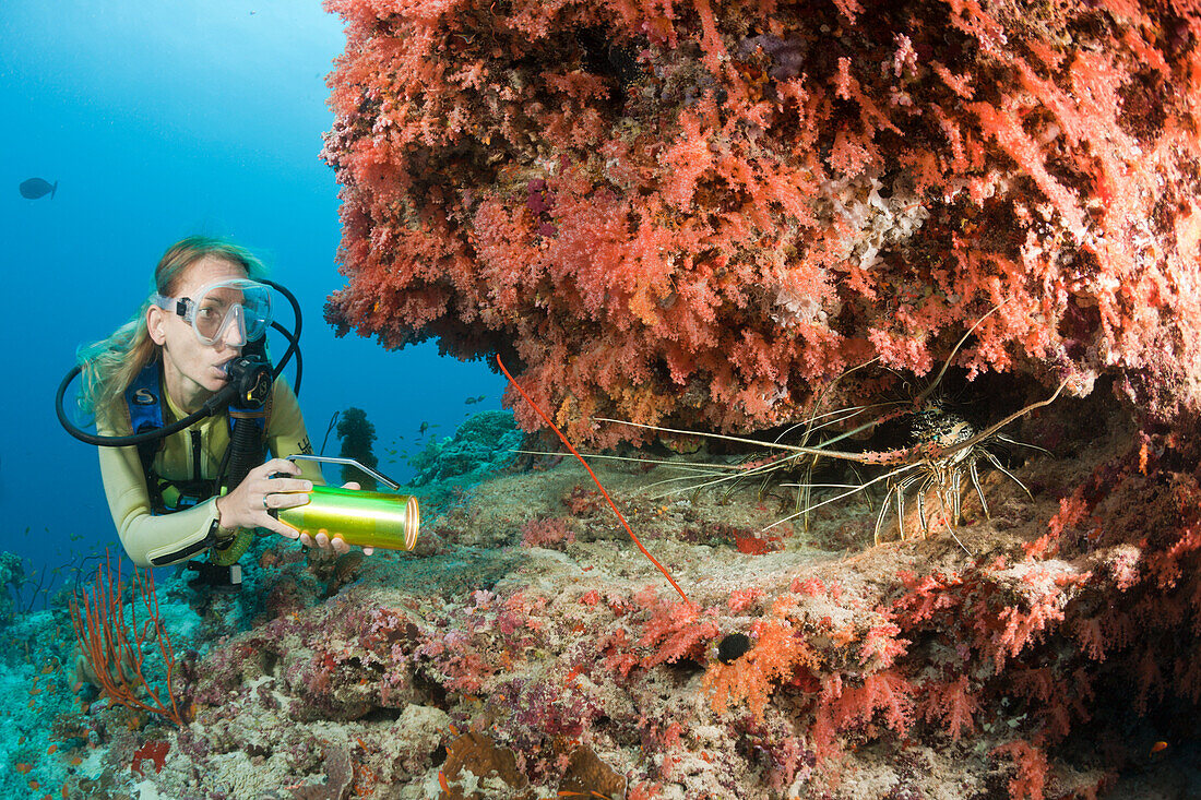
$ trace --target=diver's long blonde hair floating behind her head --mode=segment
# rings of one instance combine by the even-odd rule
[[[189,267],[205,257],[215,257],[238,264],[246,270],[246,277],[258,280],[267,269],[252,252],[211,237],[187,237],[167,247],[154,270],[154,286],[159,294],[174,297]],[[147,329],[147,309],[150,295],[142,302],[137,312],[112,335],[76,352],[76,363],[82,370],[79,408],[86,414],[104,417],[116,410],[125,389],[160,356],[161,347],[150,339]]]

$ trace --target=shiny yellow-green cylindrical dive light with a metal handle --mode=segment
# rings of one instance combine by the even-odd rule
[[[400,484],[364,466],[354,459],[324,455],[289,455],[289,461],[348,464],[376,480],[399,489]],[[313,486],[309,502],[295,508],[280,508],[273,515],[300,533],[330,538],[339,536],[347,544],[389,550],[412,550],[422,525],[420,509],[413,495],[386,491]]]

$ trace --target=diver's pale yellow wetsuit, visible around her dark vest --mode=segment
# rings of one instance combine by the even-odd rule
[[[166,390],[163,425],[183,419],[183,413]],[[127,436],[132,432],[129,408],[121,407],[115,423],[97,424],[101,436]],[[207,417],[166,438],[154,459],[154,471],[167,480],[216,477],[229,446],[229,423],[225,414]],[[309,435],[295,393],[280,376],[271,389],[270,416],[267,422],[267,446],[273,456],[311,453]],[[113,524],[121,537],[121,544],[130,559],[139,566],[177,563],[199,555],[201,543],[208,537],[217,519],[216,497],[210,497],[192,508],[171,514],[154,514],[150,491],[142,472],[138,448],[101,447],[100,473],[104,479],[104,494]],[[199,474],[196,474],[196,468]],[[324,485],[321,468],[312,461],[299,462],[303,477]],[[232,531],[225,531],[232,535]]]

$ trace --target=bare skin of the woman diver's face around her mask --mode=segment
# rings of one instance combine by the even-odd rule
[[[240,265],[205,256],[184,270],[173,294],[175,298],[196,298],[203,287],[237,277],[246,277]],[[155,344],[162,346],[167,392],[175,405],[187,412],[196,411],[226,384],[222,368],[240,356],[246,344],[243,327],[231,324],[217,341],[204,345],[196,336],[192,323],[155,305],[147,311],[147,327]]]

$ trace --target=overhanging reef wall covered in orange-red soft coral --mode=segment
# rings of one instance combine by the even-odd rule
[[[502,353],[593,444],[926,372],[998,304],[969,377],[1201,405],[1195,2],[325,5],[340,333]]]

